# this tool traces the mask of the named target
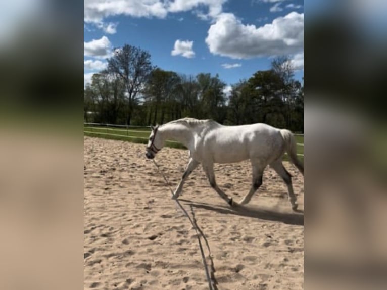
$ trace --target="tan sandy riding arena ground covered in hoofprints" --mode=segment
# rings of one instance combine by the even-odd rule
[[[195,230],[146,159],[145,147],[84,137],[84,288],[208,289]],[[174,189],[188,152],[164,148],[155,160]],[[303,210],[303,175],[284,165]],[[215,165],[215,174],[235,201],[250,189],[249,161]],[[238,210],[210,187],[200,166],[180,199],[187,210],[193,206],[208,239],[219,290],[303,289],[304,216],[291,210],[273,170],[265,170],[263,185]]]

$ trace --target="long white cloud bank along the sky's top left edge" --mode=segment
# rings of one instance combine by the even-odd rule
[[[216,17],[222,12],[223,3],[227,0],[84,0],[84,21],[101,22],[104,18],[115,15],[132,17],[165,18],[168,13],[189,11],[192,9],[208,10],[198,15]]]

